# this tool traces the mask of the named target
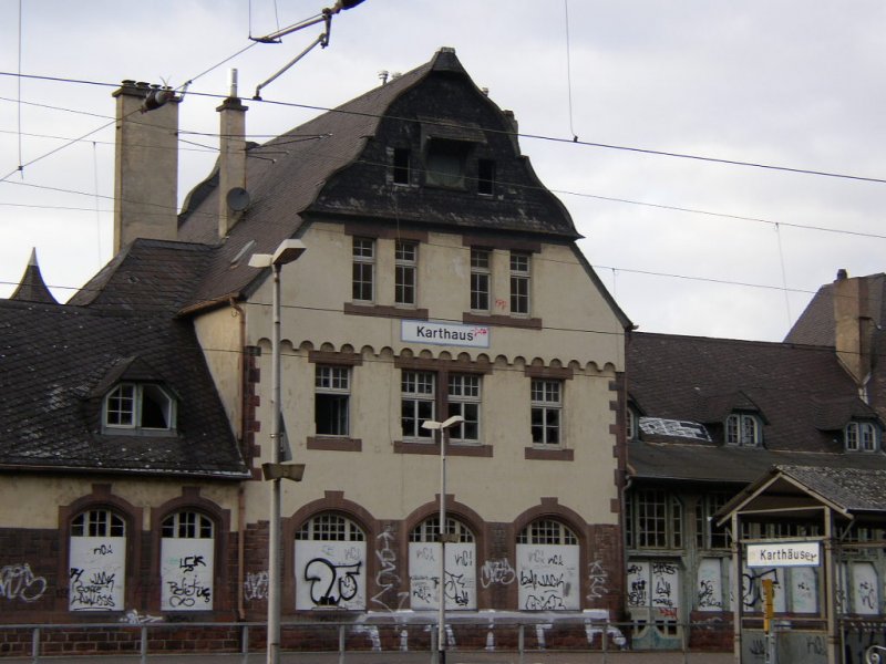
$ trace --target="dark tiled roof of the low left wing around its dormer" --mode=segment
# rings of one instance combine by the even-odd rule
[[[136,241],[74,298],[90,307],[0,300],[0,468],[248,477],[193,325],[174,318],[206,251]],[[124,374],[176,396],[175,435],[102,433]]]

